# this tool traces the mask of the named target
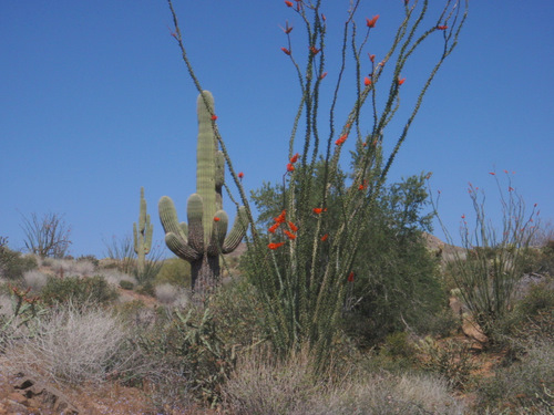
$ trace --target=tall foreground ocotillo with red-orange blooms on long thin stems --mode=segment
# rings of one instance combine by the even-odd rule
[[[172,35],[195,86],[202,91],[172,0],[167,2],[175,24]],[[332,62],[329,45],[335,43],[328,42],[328,35],[337,27],[337,17],[326,17],[325,3],[324,0],[283,3],[287,17],[295,20],[283,28],[286,41],[276,53],[289,60],[301,94],[289,141],[283,143],[284,152],[288,148],[288,160],[283,158],[283,210],[267,237],[256,230],[244,188],[215,129],[250,221],[246,273],[260,295],[268,338],[276,350],[285,353],[307,342],[320,363],[329,361],[332,341],[340,330],[346,292],[357,278],[359,242],[367,236],[376,197],[435,74],[458,44],[468,11],[468,0],[387,1],[396,4],[399,25],[390,45],[380,49],[370,42],[376,39],[373,33],[382,30],[379,14],[369,14],[372,17],[366,17],[361,24],[356,22],[359,11],[367,3],[375,7],[373,2],[345,0],[348,10],[343,29],[338,32],[341,40],[335,60],[338,68],[327,71],[327,62]],[[328,21],[334,23],[329,28]],[[296,25],[305,30],[293,31]],[[307,35],[299,45],[298,32]],[[430,65],[425,60],[431,54],[420,53],[428,45],[439,49]],[[416,56],[423,60],[418,62]],[[410,66],[419,69],[418,76],[407,75]],[[349,68],[351,74],[347,73]],[[329,102],[322,103],[326,96]],[[345,96],[352,97],[346,110]],[[398,111],[401,101],[402,106],[411,101],[411,110]],[[394,125],[392,121],[399,114],[406,114],[403,127],[390,137],[389,126]],[[390,145],[384,146],[384,142]],[[348,151],[352,154],[352,168],[346,174],[351,186],[337,189],[335,178],[343,159],[341,155]],[[315,174],[319,160],[324,162],[320,177],[325,183],[317,187]],[[339,212],[328,209],[334,193],[340,195]]]

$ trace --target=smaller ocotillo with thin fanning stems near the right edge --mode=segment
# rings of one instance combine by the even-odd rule
[[[462,257],[454,251],[451,269],[461,300],[491,343],[497,341],[499,325],[512,309],[519,281],[530,267],[530,247],[536,231],[533,219],[537,215],[536,205],[531,212],[525,211],[522,196],[505,173],[507,186],[492,173],[501,201],[501,230],[489,220],[484,191],[469,185],[475,225],[469,226],[465,215],[462,216],[460,237],[466,255]],[[442,222],[441,226],[452,243],[448,229]]]

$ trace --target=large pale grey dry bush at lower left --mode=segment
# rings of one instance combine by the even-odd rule
[[[103,382],[130,370],[126,336],[122,321],[105,310],[70,303],[44,318],[34,335],[11,339],[0,369],[48,383]]]

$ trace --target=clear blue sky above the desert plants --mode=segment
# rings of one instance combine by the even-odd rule
[[[297,17],[281,0],[174,2],[245,187],[280,180],[299,90],[279,25],[299,29]],[[332,85],[332,33],[349,1],[324,3]],[[362,1],[360,27],[380,14],[368,52],[384,51],[402,3]],[[396,159],[391,180],[433,173],[453,234],[472,210],[469,181],[485,189],[491,215],[499,211],[492,170],[515,172],[527,205],[538,204],[544,221],[554,218],[553,18],[547,0],[470,1],[460,44]],[[171,25],[164,0],[0,3],[0,236],[11,248],[23,247],[21,215],[57,212],[72,228],[71,255],[103,257],[104,240],[131,235],[141,186],[157,242],[160,197],[171,196],[185,219],[195,191],[197,93]],[[302,30],[291,34],[304,41]],[[435,54],[424,50],[421,62]],[[414,64],[403,74],[407,104],[422,70]],[[396,139],[391,129],[386,141]]]

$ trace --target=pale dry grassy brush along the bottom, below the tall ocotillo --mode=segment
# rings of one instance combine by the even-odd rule
[[[230,411],[238,414],[310,415],[462,415],[464,405],[449,394],[448,383],[431,375],[392,375],[352,369],[336,380],[316,377],[314,362],[302,352],[284,363],[269,355],[239,360],[224,385]],[[334,381],[331,381],[334,380]]]

